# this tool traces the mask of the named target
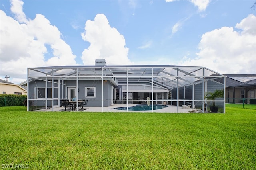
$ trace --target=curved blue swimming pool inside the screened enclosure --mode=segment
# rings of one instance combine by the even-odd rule
[[[153,104],[153,110],[163,109],[168,107],[167,105],[162,104]],[[114,108],[117,110],[127,110],[127,107],[117,107]],[[152,110],[152,104],[149,106],[146,104],[137,104],[135,106],[128,107],[128,111],[146,111],[146,110]]]

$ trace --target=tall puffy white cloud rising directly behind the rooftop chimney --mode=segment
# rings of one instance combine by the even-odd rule
[[[85,65],[94,65],[95,59],[106,59],[108,65],[133,64],[128,59],[129,49],[125,47],[124,36],[110,27],[104,14],[97,14],[94,21],[86,21],[84,29],[82,39],[90,43],[82,53]]]

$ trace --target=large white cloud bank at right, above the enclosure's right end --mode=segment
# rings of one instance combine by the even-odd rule
[[[182,65],[205,66],[221,74],[252,74],[256,65],[256,17],[250,14],[236,28],[222,27],[202,35],[196,59],[184,58]]]

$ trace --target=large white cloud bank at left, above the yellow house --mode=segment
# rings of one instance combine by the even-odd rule
[[[26,68],[52,65],[74,65],[76,56],[61,39],[57,27],[43,15],[37,14],[34,20],[26,19],[22,11],[22,1],[12,1],[11,10],[15,18],[0,10],[0,56],[1,76],[10,76],[10,81],[26,80]],[[52,51],[47,51],[49,45]],[[50,59],[45,55],[52,53]]]

